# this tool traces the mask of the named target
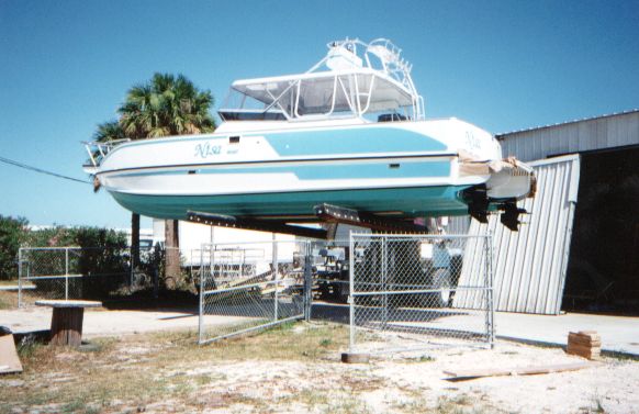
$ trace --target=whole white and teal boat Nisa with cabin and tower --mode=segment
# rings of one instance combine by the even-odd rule
[[[158,219],[303,223],[334,205],[412,223],[502,210],[516,230],[530,167],[503,159],[471,123],[427,120],[390,41],[327,46],[303,74],[234,81],[214,133],[86,143],[85,170],[125,209]]]

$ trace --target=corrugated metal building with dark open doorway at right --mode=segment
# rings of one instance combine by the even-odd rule
[[[496,137],[504,155],[532,161],[540,178],[519,233],[501,228],[496,217],[470,226],[494,232],[496,309],[639,314],[639,110]],[[567,154],[579,155],[571,167],[554,158]],[[456,305],[472,307],[472,298],[460,295]]]

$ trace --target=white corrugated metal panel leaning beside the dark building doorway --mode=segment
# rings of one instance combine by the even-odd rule
[[[472,221],[470,235],[493,234],[495,310],[558,314],[568,266],[574,204],[579,189],[579,156],[530,163],[538,178],[535,199],[519,202],[530,215],[519,232],[511,232],[491,215],[487,224]],[[469,244],[459,286],[479,286],[481,246]],[[478,309],[481,298],[457,292],[453,306]]]

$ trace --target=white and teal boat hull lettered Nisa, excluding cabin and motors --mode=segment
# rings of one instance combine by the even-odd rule
[[[460,152],[473,163],[501,158],[490,134],[455,119],[267,124],[271,130],[225,123],[215,134],[126,143],[104,157],[97,177],[125,209],[158,219],[199,211],[316,221],[322,203],[410,219],[468,213],[463,190],[491,172],[464,171]]]

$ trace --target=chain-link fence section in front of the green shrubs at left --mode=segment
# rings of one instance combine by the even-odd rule
[[[127,249],[29,247],[19,250],[18,305],[42,299],[102,299],[132,282]]]

